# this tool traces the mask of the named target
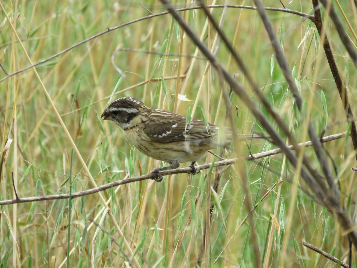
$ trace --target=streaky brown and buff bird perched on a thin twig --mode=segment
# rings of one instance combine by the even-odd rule
[[[132,97],[112,101],[101,118],[114,121],[141,153],[170,164],[151,171],[156,174],[154,180],[157,182],[163,179],[161,171],[176,169],[180,163],[191,162],[189,173],[197,174],[197,160],[205,157],[208,150],[220,146],[218,126],[198,119],[188,120],[170,111],[151,109]]]

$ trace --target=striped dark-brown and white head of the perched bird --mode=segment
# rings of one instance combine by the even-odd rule
[[[137,122],[140,121],[139,115],[147,109],[149,108],[140,100],[121,97],[109,104],[100,117],[103,120],[114,121],[115,124],[125,130],[139,123]]]

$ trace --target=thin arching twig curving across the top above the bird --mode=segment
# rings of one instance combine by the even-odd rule
[[[251,10],[256,10],[257,8],[255,6],[243,6],[243,5],[210,5],[210,6],[207,6],[207,8],[241,8],[241,9],[251,9]],[[200,6],[193,6],[193,7],[188,7],[188,8],[181,8],[181,9],[178,9],[177,11],[185,11],[185,10],[195,10],[195,9],[201,9]],[[283,9],[283,8],[266,8],[266,10],[269,10],[269,11],[277,11],[277,12],[284,12],[284,13],[291,13],[291,14],[294,14],[294,15],[298,15],[298,16],[301,16],[303,18],[306,18],[306,19],[310,19],[313,21],[314,17],[309,15],[309,14],[305,14],[305,13],[302,13],[302,12],[299,12],[299,11],[295,11],[295,10],[291,10],[291,9]],[[80,46],[84,43],[87,43],[88,41],[90,40],[93,40],[101,35],[104,35],[106,33],[109,33],[111,31],[114,31],[116,29],[119,29],[119,28],[122,28],[124,26],[127,26],[127,25],[130,25],[130,24],[134,24],[134,23],[137,23],[139,21],[142,21],[142,20],[147,20],[147,19],[151,19],[151,18],[155,18],[155,17],[158,17],[158,16],[162,16],[162,15],[166,15],[166,14],[169,14],[169,11],[164,11],[164,12],[160,12],[160,13],[156,13],[156,14],[153,14],[153,15],[148,15],[148,16],[145,16],[145,17],[142,17],[142,18],[139,18],[139,19],[135,19],[135,20],[132,20],[132,21],[129,21],[127,23],[123,23],[123,24],[120,24],[120,25],[117,25],[117,26],[114,26],[112,28],[108,28],[107,30],[105,31],[102,31],[101,33],[98,33],[98,34],[95,34],[93,36],[91,36],[90,38],[87,38],[85,40],[82,40],[80,41],[79,43],[75,44],[75,45],[72,45],[70,46],[69,48],[66,48],[62,51],[60,51],[59,53],[56,53],[52,56],[50,56],[49,58],[46,58],[44,60],[41,60],[35,64],[32,64],[30,66],[27,66],[26,68],[23,68],[21,70],[18,70],[14,73],[11,73],[9,75],[6,75],[4,78],[0,79],[0,83],[8,78],[10,78],[11,76],[14,76],[16,74],[19,74],[19,73],[22,73],[28,69],[31,69],[32,67],[35,67],[37,65],[40,65],[40,64],[43,64],[51,59],[54,59],[54,58],[57,58],[59,57],[60,55],[76,48],[77,46]]]

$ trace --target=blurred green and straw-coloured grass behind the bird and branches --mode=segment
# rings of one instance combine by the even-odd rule
[[[288,9],[313,14],[311,1],[282,2]],[[182,0],[173,4],[176,8],[196,5]],[[253,1],[228,4],[253,5]],[[357,29],[353,1],[340,4],[352,28]],[[32,63],[107,28],[127,24],[36,66],[44,87],[32,69],[0,83],[0,151],[5,148],[1,153],[1,200],[15,198],[12,172],[20,198],[69,193],[70,185],[72,192],[94,187],[65,128],[98,186],[164,166],[165,163],[132,148],[114,123],[100,120],[109,101],[119,96],[133,96],[150,108],[185,116],[192,113],[192,118],[205,116],[212,123],[230,126],[222,99],[222,90],[228,93],[229,86],[221,83],[218,74],[171,15],[129,23],[150,13],[166,11],[159,1],[2,1],[1,5],[0,63],[7,73],[30,63],[5,13]],[[264,5],[283,8],[280,1],[266,0]],[[333,6],[353,40],[335,1]],[[326,33],[356,114],[356,68],[322,10]],[[217,21],[222,20],[223,31],[271,106],[298,142],[305,142],[302,133],[306,118],[296,112],[257,11],[242,8],[211,11]],[[310,119],[317,134],[326,136],[347,131],[349,124],[343,104],[315,26],[297,14],[267,12],[303,98],[306,100],[313,94],[312,107],[304,102],[304,111],[311,108]],[[203,11],[187,10],[180,14],[229,73],[236,73],[237,81],[260,105],[229,51],[217,39],[216,31],[207,24]],[[0,79],[5,76],[1,71]],[[267,135],[236,95],[230,100],[233,127],[239,134]],[[261,109],[273,123],[265,109]],[[8,138],[12,143],[6,149]],[[243,157],[276,148],[266,140],[250,139],[241,141],[237,147],[239,150],[232,148],[223,157]],[[351,171],[356,167],[351,138],[334,140],[324,147],[331,156],[331,167],[336,166],[334,176],[353,219],[357,185],[356,175]],[[306,148],[305,153],[320,170],[313,150]],[[218,160],[208,155],[198,164]],[[303,241],[348,262],[350,243],[346,232],[333,214],[307,195],[311,192],[308,185],[295,177],[295,170],[284,155],[273,155],[259,162],[245,161],[242,166],[249,180],[249,196],[241,187],[237,170],[240,166],[232,165],[222,174],[217,173],[222,168],[207,169],[195,176],[165,177],[161,183],[145,180],[121,185],[102,192],[102,197],[92,194],[72,199],[71,206],[68,199],[3,205],[0,266],[255,267],[256,263],[264,267],[335,266],[303,247]],[[215,193],[211,185],[217,176],[221,177]],[[288,180],[296,179],[301,188],[295,193]],[[273,191],[268,192],[275,183]],[[266,193],[267,197],[261,201]],[[243,223],[248,215],[245,198],[257,204],[253,220],[260,256],[253,251],[248,222]],[[213,210],[209,217],[211,204]],[[100,228],[92,220],[100,223]],[[292,226],[285,229],[287,220],[291,220]],[[286,236],[287,243],[283,243]],[[286,254],[281,256],[283,249]],[[355,254],[352,249],[352,267],[356,267]]]

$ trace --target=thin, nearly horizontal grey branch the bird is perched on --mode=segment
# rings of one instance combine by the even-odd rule
[[[321,142],[330,142],[332,140],[341,139],[341,138],[345,137],[346,134],[347,134],[347,132],[342,132],[342,133],[326,136],[325,138],[322,138]],[[299,144],[299,146],[304,146],[304,147],[310,147],[311,145],[312,145],[311,141]],[[293,145],[288,146],[288,149],[295,150]],[[250,161],[253,159],[268,157],[268,156],[280,154],[280,153],[282,153],[282,150],[280,148],[278,148],[278,149],[273,149],[273,150],[262,152],[262,153],[249,155],[247,157],[244,157],[243,159]],[[198,165],[198,166],[196,166],[196,169],[197,169],[197,171],[200,171],[200,170],[204,170],[204,169],[209,169],[211,166],[222,167],[225,165],[234,164],[237,160],[241,160],[241,158],[233,158],[233,159],[227,159],[227,160],[214,162],[214,163],[210,163],[210,164]],[[172,175],[172,174],[189,173],[191,171],[192,171],[191,167],[178,168],[178,169],[162,171],[161,175],[167,176],[167,175]],[[72,193],[71,196],[72,196],[72,198],[82,197],[85,195],[90,195],[90,194],[94,194],[97,192],[101,192],[106,189],[116,187],[118,185],[132,183],[132,182],[139,182],[141,180],[154,179],[155,176],[156,176],[156,174],[146,174],[146,175],[142,175],[142,176],[118,180],[116,182],[107,183],[107,184],[101,185],[96,188],[84,190],[82,192]],[[43,200],[67,199],[67,198],[69,198],[69,194],[53,194],[53,195],[45,195],[45,196],[40,196],[40,197],[25,197],[25,198],[19,198],[19,200],[16,200],[16,199],[2,200],[2,201],[0,201],[0,206],[1,205],[17,204],[17,203],[37,202],[37,201],[43,201]]]

